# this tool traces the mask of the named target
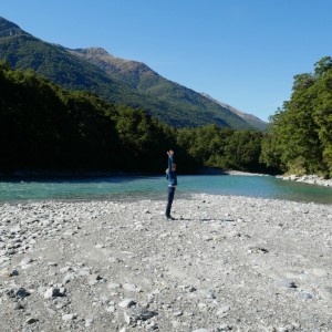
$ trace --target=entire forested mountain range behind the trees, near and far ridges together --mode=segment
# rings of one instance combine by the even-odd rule
[[[69,90],[86,90],[114,105],[146,111],[173,126],[216,123],[252,126],[215,101],[168,81],[144,63],[112,56],[103,49],[70,50],[44,42],[0,18],[0,60],[33,70]]]

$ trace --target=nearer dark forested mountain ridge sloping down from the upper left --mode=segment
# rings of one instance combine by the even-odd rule
[[[98,95],[142,100],[137,91],[112,80],[97,66],[71,55],[64,48],[43,42],[0,18],[0,59],[13,69],[33,70],[70,90],[87,90]]]

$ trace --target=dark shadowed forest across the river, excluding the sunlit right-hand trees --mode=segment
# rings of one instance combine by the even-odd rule
[[[175,128],[143,110],[114,106],[0,63],[1,173],[163,173],[170,147],[179,173],[203,167],[266,172],[259,163],[262,137],[218,125]]]

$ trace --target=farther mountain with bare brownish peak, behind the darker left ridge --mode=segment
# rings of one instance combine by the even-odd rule
[[[167,102],[174,107],[181,108],[180,104],[185,101],[187,111],[193,107],[193,104],[198,105],[198,107],[205,110],[206,114],[210,114],[211,118],[215,117],[215,114],[221,112],[222,108],[226,122],[231,122],[234,115],[237,115],[253,128],[264,131],[267,127],[267,124],[258,117],[255,118],[253,115],[242,113],[229,105],[222,104],[209,95],[197,93],[166,80],[142,62],[115,58],[102,48],[69,49],[69,52],[97,65],[114,80],[124,82],[131,87],[148,94],[154,98]],[[186,111],[184,110],[183,112]],[[215,120],[218,123],[218,118]]]

